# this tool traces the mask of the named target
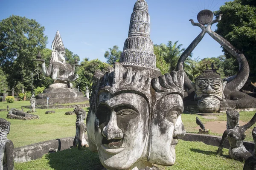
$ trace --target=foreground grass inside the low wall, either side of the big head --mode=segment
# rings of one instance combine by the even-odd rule
[[[218,147],[202,142],[182,141],[176,147],[176,161],[171,167],[155,165],[160,170],[241,170],[244,163],[227,159],[228,150],[224,156],[215,156]],[[56,153],[47,153],[41,159],[15,163],[15,170],[102,170],[97,153],[88,148],[78,150],[67,149]]]

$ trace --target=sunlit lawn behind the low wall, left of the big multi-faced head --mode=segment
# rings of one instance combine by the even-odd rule
[[[21,106],[29,105],[28,101],[15,101],[14,103],[0,102],[0,108],[20,109]],[[88,111],[88,108],[83,108]],[[55,113],[45,114],[46,111],[52,110]],[[29,109],[24,108],[24,111]],[[16,120],[7,119],[7,111],[0,112],[0,118],[7,119],[11,122],[11,130],[7,136],[15,147],[21,147],[33,143],[47,140],[64,138],[76,135],[76,115],[65,115],[65,112],[73,111],[73,108],[66,109],[36,109],[36,114],[40,119],[33,120]]]

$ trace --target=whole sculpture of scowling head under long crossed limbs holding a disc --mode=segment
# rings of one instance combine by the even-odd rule
[[[184,98],[185,108],[192,103],[191,99],[193,97],[198,101],[198,110],[204,113],[225,111],[227,108],[256,108],[255,98],[239,92],[249,77],[249,65],[244,54],[211,30],[212,24],[218,23],[221,20],[221,16],[220,14],[218,19],[212,20],[212,11],[203,10],[198,13],[199,23],[194,23],[193,20],[190,20],[193,26],[200,27],[202,31],[181,55],[177,63],[177,70],[183,69],[186,58],[203,39],[204,35],[208,33],[238,60],[239,72],[233,79],[225,79],[223,81],[212,67],[212,71],[208,70],[196,78],[195,85],[192,85],[191,80],[185,75],[184,88],[188,90]]]

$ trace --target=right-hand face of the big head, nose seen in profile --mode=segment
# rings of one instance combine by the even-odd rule
[[[169,94],[157,101],[151,132],[154,145],[151,145],[149,157],[153,163],[166,166],[175,163],[178,137],[185,135],[182,112],[183,100],[178,94]]]

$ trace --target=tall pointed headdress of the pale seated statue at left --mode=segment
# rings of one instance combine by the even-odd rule
[[[65,51],[64,44],[61,39],[59,31],[56,32],[54,40],[52,41],[52,57],[53,61],[58,61],[58,51]]]

